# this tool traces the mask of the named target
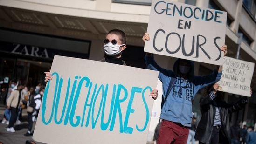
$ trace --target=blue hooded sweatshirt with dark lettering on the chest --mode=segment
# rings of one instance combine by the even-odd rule
[[[195,76],[194,62],[187,60],[190,63],[191,69],[188,72],[188,79],[180,77],[178,74],[180,59],[176,59],[173,64],[173,71],[159,67],[154,61],[154,57],[145,56],[145,62],[148,69],[159,71],[159,80],[163,83],[163,97],[166,99],[160,118],[181,123],[183,126],[191,127],[191,120],[194,115],[192,112],[192,100],[197,91],[218,82],[221,79],[222,72],[213,71],[210,75]],[[171,88],[168,96],[166,96],[172,77],[176,80]]]

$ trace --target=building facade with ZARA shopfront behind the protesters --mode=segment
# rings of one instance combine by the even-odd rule
[[[173,0],[197,7],[226,11],[226,42],[229,57],[256,63],[256,1],[255,0]],[[123,58],[127,65],[146,68],[142,36],[147,24],[152,0],[0,0],[0,78],[4,85],[11,80],[28,86],[44,83],[54,55],[90,60],[104,57],[103,40],[111,29],[127,34]],[[242,42],[238,43],[242,34]],[[175,58],[156,55],[159,65],[172,69]],[[195,62],[195,74],[205,75],[214,66]],[[45,83],[44,83],[45,84]],[[256,68],[251,82],[256,89]],[[161,96],[161,82],[158,84]],[[198,99],[194,113],[200,119]],[[228,102],[241,96],[225,94]],[[159,121],[160,99],[154,103],[148,141]],[[256,123],[256,93],[247,106],[233,113],[231,124]]]

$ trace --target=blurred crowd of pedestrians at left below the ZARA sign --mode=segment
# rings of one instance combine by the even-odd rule
[[[27,110],[28,132],[24,136],[33,135],[31,130],[39,113],[43,92],[44,88],[41,83],[38,83],[35,87],[29,87],[13,80],[8,88],[1,86],[2,104],[6,105],[1,123],[7,124],[7,132],[15,132],[15,125],[21,124],[21,121],[23,121],[22,110],[31,107],[32,111]]]

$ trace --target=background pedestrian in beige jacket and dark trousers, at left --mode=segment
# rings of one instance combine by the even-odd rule
[[[21,98],[21,90],[23,86],[19,84],[17,89],[15,89],[10,97],[7,100],[7,109],[11,110],[11,118],[9,120],[9,125],[7,127],[8,132],[15,132],[14,130],[14,123],[17,120],[18,110],[19,107],[22,105],[22,98]]]

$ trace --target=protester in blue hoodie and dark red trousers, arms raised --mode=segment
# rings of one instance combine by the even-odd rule
[[[149,34],[145,33],[142,40],[149,41]],[[221,51],[225,56],[227,46],[223,45]],[[173,65],[173,71],[161,68],[151,53],[146,53],[145,62],[148,69],[159,71],[159,79],[163,83],[165,103],[160,115],[163,121],[158,144],[186,144],[193,117],[192,100],[199,89],[220,80],[222,66],[217,66],[210,75],[195,76],[194,62],[190,60],[178,58]],[[175,79],[173,84],[172,79]],[[168,87],[171,87],[169,94]]]

